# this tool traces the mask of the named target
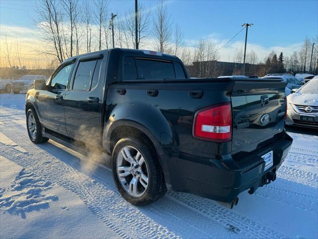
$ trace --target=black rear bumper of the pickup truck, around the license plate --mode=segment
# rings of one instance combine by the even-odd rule
[[[293,139],[282,133],[282,137],[248,155],[235,160],[232,155],[222,155],[222,159],[198,158],[180,153],[170,160],[170,180],[172,189],[196,194],[221,202],[233,201],[239,193],[251,189],[254,192],[263,186],[263,177],[275,173],[285,160]],[[273,150],[273,166],[264,171],[265,162],[261,158]],[[173,165],[172,165],[173,164]]]

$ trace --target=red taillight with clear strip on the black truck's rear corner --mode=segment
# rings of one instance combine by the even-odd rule
[[[226,142],[232,139],[231,103],[221,103],[201,109],[195,113],[193,137]]]

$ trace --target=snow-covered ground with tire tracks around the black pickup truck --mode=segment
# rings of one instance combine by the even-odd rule
[[[142,208],[121,198],[111,171],[26,132],[25,94],[0,94],[0,238],[318,238],[318,136],[290,133],[274,183],[229,210],[168,192]]]

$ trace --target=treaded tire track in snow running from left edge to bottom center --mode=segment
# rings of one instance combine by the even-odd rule
[[[19,165],[21,165],[22,161],[21,166],[29,168],[35,174],[39,174],[77,194],[94,215],[122,238],[178,238],[174,233],[143,215],[138,208],[128,204],[118,193],[115,194],[113,190],[109,189],[105,193],[105,190],[98,188],[100,185],[98,183],[90,184],[95,185],[98,194],[103,196],[101,202],[96,202],[82,183],[77,181],[79,177],[85,178],[86,183],[90,183],[92,180],[87,176],[85,177],[85,175],[78,176],[78,172],[70,170],[68,164],[57,161],[55,157],[49,156],[44,160],[35,160],[37,159],[36,155],[22,155],[19,151],[7,148],[2,143],[0,145],[1,155],[5,155],[5,157]],[[41,157],[46,156],[44,151]],[[21,160],[21,157],[24,157],[24,159]],[[51,159],[51,161],[48,161],[48,159]],[[111,210],[101,210],[102,208]]]

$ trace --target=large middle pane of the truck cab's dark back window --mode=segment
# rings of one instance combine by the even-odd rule
[[[175,79],[173,63],[152,59],[136,58],[138,79],[162,80]]]

